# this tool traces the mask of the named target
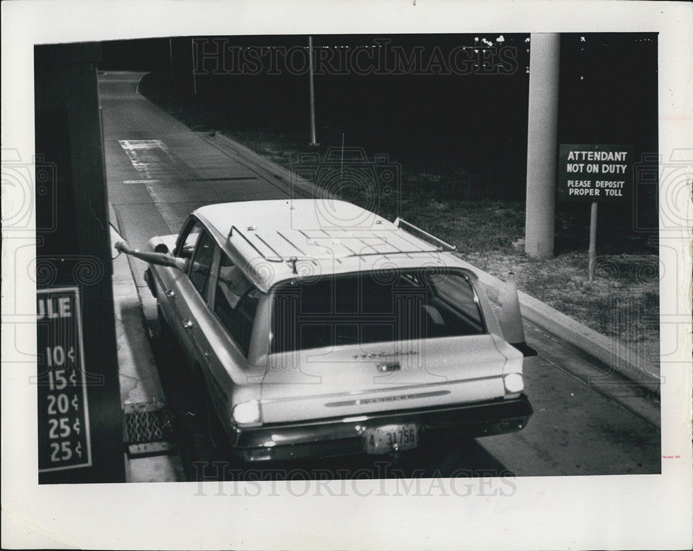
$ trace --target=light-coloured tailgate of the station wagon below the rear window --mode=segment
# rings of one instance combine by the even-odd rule
[[[502,398],[507,358],[491,335],[379,342],[273,354],[264,423]]]

